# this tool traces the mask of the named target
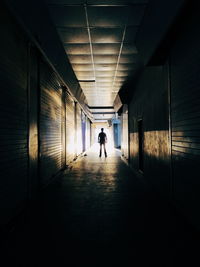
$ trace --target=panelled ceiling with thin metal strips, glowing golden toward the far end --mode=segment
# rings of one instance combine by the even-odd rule
[[[94,118],[112,118],[118,91],[140,66],[135,38],[148,0],[46,2],[88,105],[111,107],[91,109]]]

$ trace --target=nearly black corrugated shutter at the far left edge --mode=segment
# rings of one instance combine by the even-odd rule
[[[28,123],[27,52],[25,37],[0,5],[0,210],[7,223],[27,198]],[[6,207],[6,208],[5,208]]]

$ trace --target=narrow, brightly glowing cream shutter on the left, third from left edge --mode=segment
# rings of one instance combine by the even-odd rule
[[[75,113],[74,100],[66,94],[66,163],[75,157]]]

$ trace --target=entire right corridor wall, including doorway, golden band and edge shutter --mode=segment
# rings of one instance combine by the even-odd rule
[[[130,164],[200,229],[200,3],[189,1],[136,84]],[[163,56],[165,55],[165,57]],[[165,60],[163,61],[163,59]],[[152,63],[155,62],[155,63]],[[158,64],[158,63],[157,63]],[[141,164],[141,161],[143,161]],[[142,169],[141,169],[142,167]]]

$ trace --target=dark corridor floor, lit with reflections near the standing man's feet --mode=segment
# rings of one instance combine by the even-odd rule
[[[200,266],[183,218],[119,152],[99,158],[94,147],[41,193],[13,239],[12,266]]]

